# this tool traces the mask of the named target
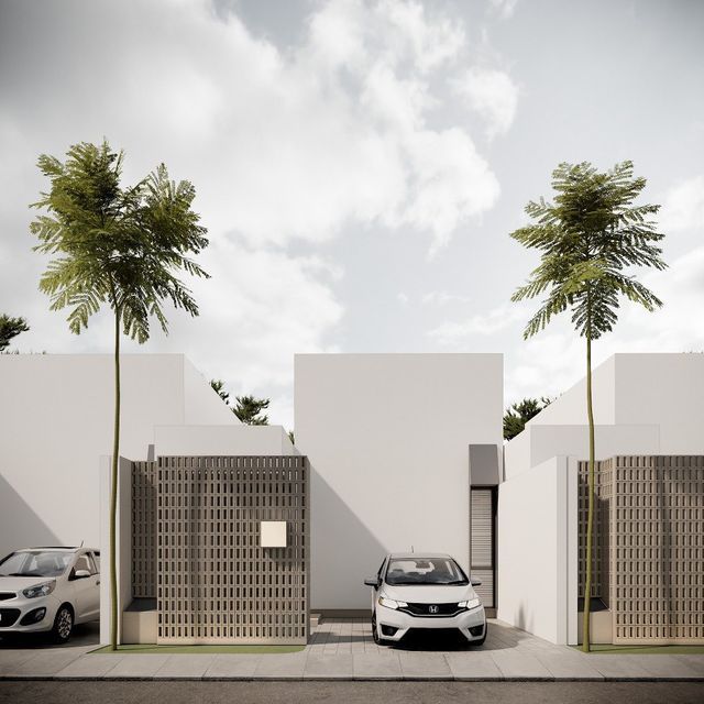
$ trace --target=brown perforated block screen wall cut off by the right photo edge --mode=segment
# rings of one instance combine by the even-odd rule
[[[704,457],[620,455],[597,462],[596,474],[592,594],[612,612],[614,644],[704,644]]]

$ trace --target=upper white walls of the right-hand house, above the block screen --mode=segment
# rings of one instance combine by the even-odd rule
[[[543,460],[586,459],[582,380],[506,443],[510,479]],[[594,372],[596,458],[704,454],[704,354],[615,354]]]

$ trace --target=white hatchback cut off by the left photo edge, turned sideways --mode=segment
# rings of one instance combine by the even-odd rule
[[[29,548],[0,561],[0,636],[50,631],[66,642],[75,624],[100,616],[100,553]]]

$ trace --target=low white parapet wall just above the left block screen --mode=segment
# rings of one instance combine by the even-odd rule
[[[282,426],[157,426],[154,455],[296,454]]]

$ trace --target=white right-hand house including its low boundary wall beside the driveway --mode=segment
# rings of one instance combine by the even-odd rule
[[[596,460],[704,455],[703,354],[615,354],[594,371],[593,397]],[[504,457],[498,617],[575,644],[576,463],[588,458],[584,380],[530,420]]]

